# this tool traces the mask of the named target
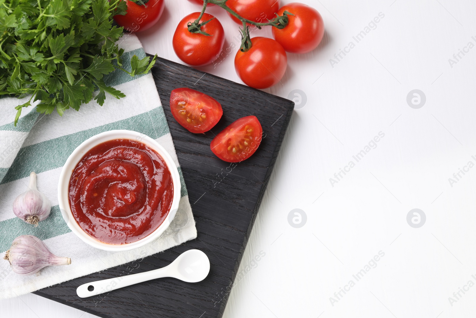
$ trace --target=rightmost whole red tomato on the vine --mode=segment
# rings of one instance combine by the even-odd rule
[[[317,48],[324,36],[324,21],[319,12],[298,2],[281,7],[278,14],[283,15],[285,10],[294,15],[288,16],[289,24],[284,29],[273,28],[275,40],[292,53],[307,53]]]

